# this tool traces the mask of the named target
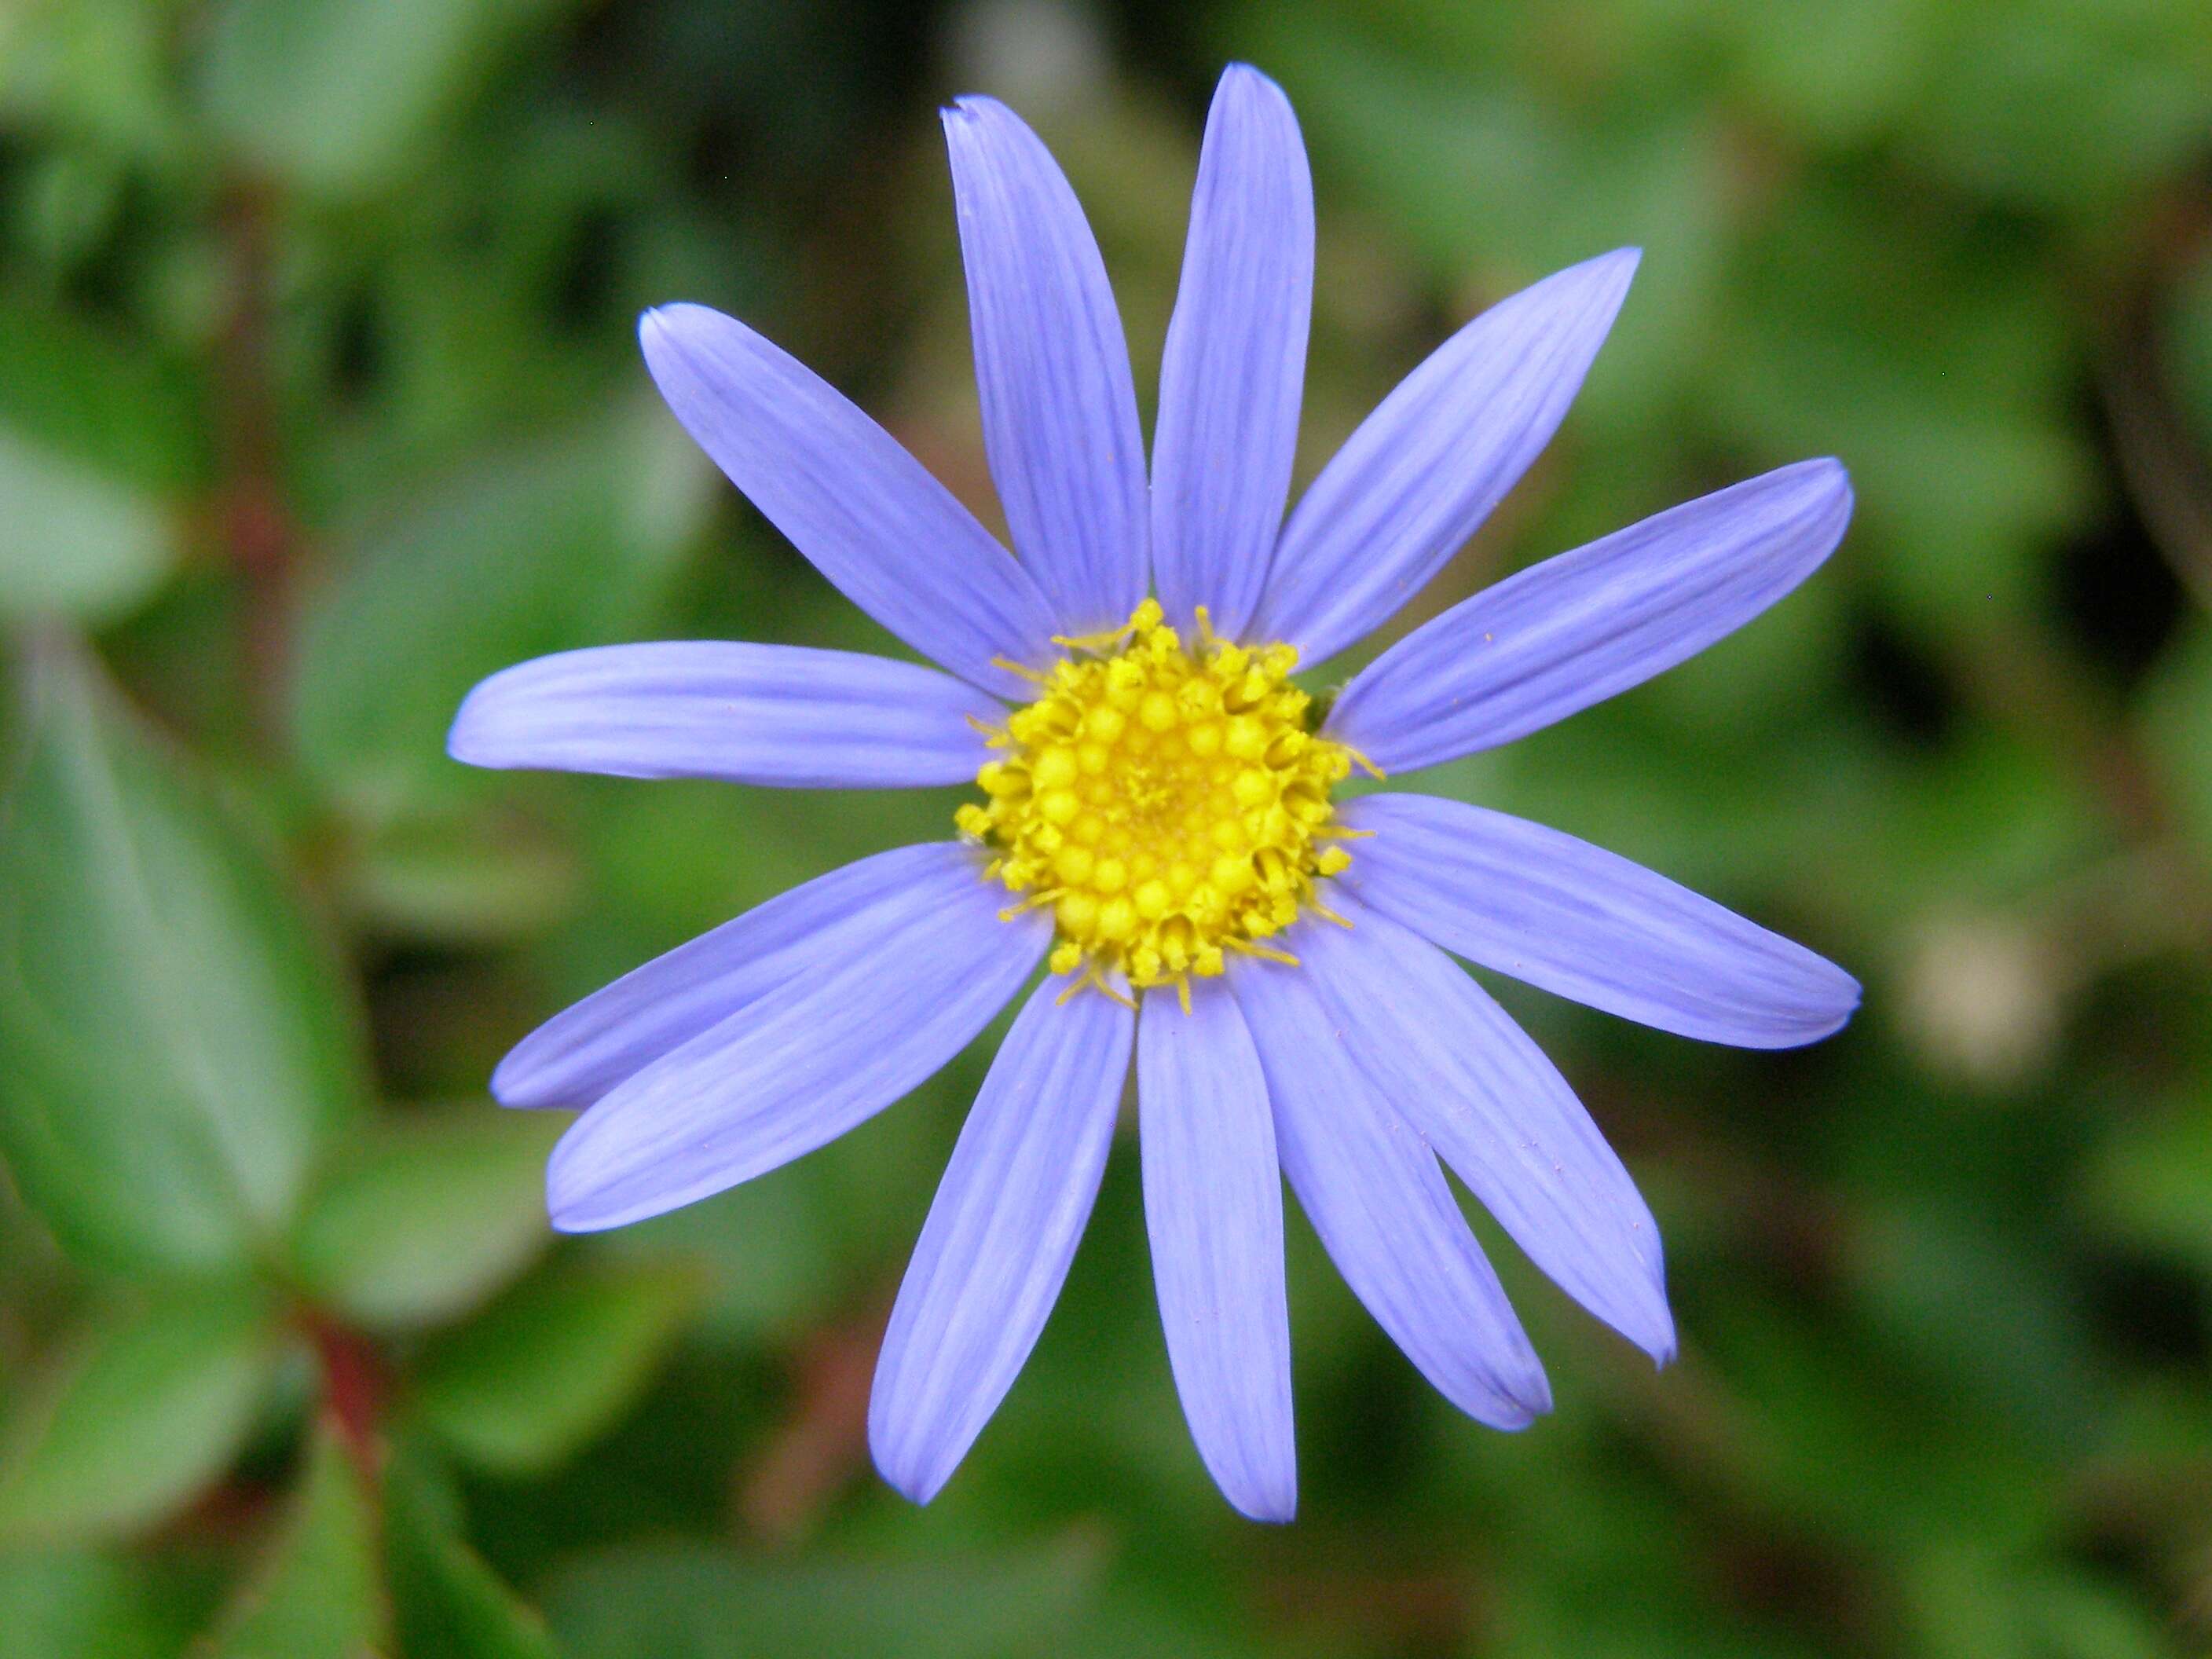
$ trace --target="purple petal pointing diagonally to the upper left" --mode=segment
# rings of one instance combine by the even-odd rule
[[[1051,659],[1044,593],[891,434],[706,305],[650,310],[637,338],[692,440],[847,599],[969,684],[1026,701],[991,659]]]

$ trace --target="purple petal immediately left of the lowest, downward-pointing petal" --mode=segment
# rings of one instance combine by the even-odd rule
[[[867,1402],[883,1478],[927,1504],[1006,1398],[1075,1259],[1135,1015],[1046,978],[1006,1033],[929,1206]]]

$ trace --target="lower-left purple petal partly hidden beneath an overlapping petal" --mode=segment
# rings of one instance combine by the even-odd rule
[[[553,1015],[500,1062],[491,1093],[507,1106],[588,1106],[776,987],[885,951],[980,885],[973,849],[951,841],[832,869]]]

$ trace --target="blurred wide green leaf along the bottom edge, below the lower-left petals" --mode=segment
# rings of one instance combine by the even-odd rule
[[[830,1564],[644,1548],[571,1575],[551,1613],[575,1659],[1066,1652],[1099,1568],[1084,1542],[995,1559]]]

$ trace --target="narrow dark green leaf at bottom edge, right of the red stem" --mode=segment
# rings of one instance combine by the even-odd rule
[[[458,1502],[414,1449],[385,1471],[385,1562],[407,1659],[555,1659],[544,1619],[460,1533]]]

